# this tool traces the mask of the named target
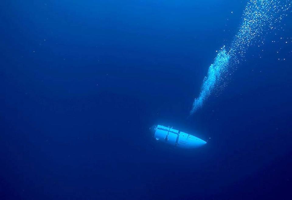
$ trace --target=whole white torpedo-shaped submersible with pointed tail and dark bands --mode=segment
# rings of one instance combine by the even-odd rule
[[[197,148],[207,144],[207,142],[196,136],[189,135],[188,133],[170,127],[155,125],[151,127],[151,130],[156,140],[179,148]]]

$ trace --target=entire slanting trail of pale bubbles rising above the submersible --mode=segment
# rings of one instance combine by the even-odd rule
[[[195,98],[190,115],[201,108],[207,98],[220,87],[222,82],[231,75],[244,57],[246,50],[255,44],[264,44],[264,35],[275,30],[287,11],[292,0],[250,0],[242,15],[242,23],[238,33],[231,42],[230,48],[225,46],[217,54],[210,65],[207,76],[203,80],[200,94]]]

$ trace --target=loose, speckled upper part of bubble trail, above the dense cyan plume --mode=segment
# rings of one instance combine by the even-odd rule
[[[289,3],[290,2],[290,3]],[[229,49],[235,62],[239,62],[251,45],[260,47],[264,36],[276,29],[291,7],[291,0],[251,0],[245,7],[242,24]]]

